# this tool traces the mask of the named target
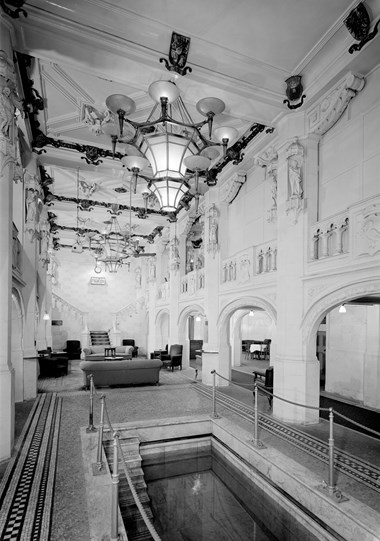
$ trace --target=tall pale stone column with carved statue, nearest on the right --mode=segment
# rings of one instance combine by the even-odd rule
[[[315,138],[294,138],[291,130],[298,128],[302,135],[304,119],[302,113],[292,117],[292,121],[283,121],[280,133],[285,136],[278,149],[277,354],[272,359],[274,393],[295,403],[317,407],[319,363],[316,356],[313,359],[306,358],[301,328],[308,213],[313,219],[316,216],[318,141]],[[318,422],[319,417],[318,410],[305,409],[276,399],[273,402],[273,414],[291,423]]]

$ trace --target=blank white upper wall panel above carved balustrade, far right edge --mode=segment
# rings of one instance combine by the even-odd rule
[[[380,192],[380,68],[320,143],[319,219]]]

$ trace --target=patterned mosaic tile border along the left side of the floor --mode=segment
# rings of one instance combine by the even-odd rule
[[[37,397],[0,485],[0,539],[48,541],[61,399]]]

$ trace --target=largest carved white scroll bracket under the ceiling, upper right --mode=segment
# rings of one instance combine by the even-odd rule
[[[338,122],[352,98],[363,90],[364,85],[362,75],[349,72],[308,111],[308,133],[319,136],[327,133]]]

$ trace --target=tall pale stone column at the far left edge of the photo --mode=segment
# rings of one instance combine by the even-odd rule
[[[15,381],[11,363],[12,192],[15,167],[16,78],[11,46],[12,26],[0,12],[0,461],[9,458],[14,442]]]

